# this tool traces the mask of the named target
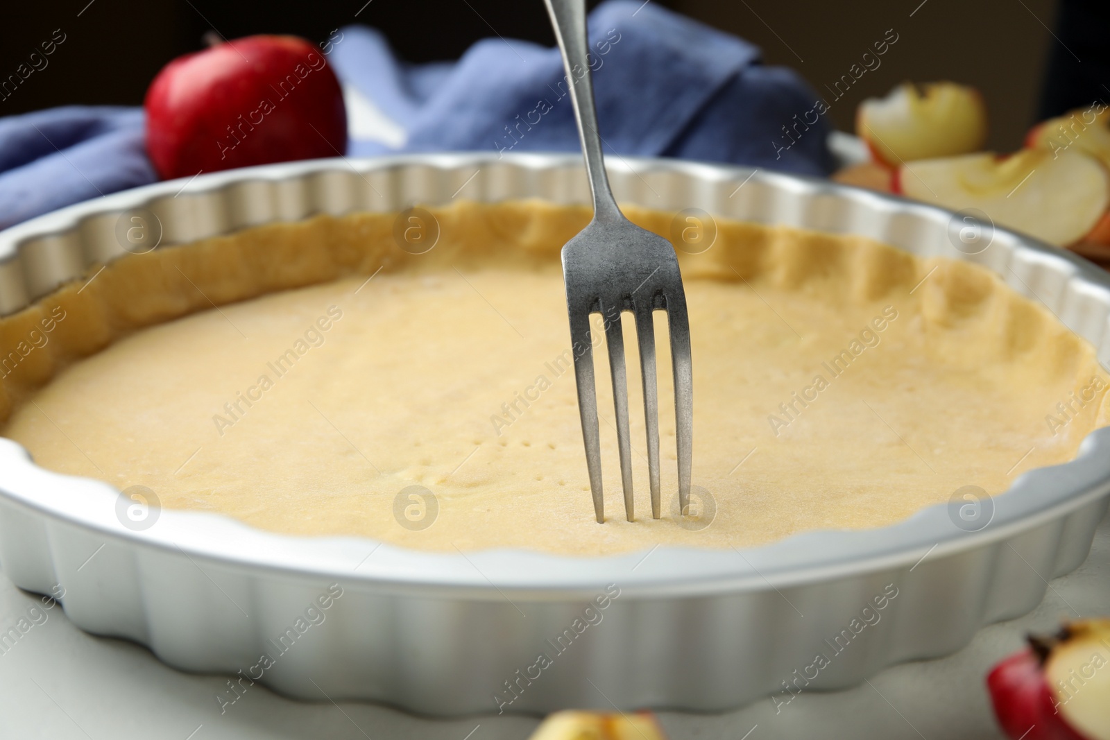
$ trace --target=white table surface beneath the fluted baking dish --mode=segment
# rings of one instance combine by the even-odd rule
[[[40,598],[0,578],[0,625],[41,607]],[[1072,608],[1083,617],[1110,615],[1110,517],[1087,561],[1052,581],[1035,611],[980,630],[953,656],[890,668],[851,690],[803,693],[777,716],[770,700],[760,700],[724,714],[665,712],[659,719],[672,740],[1001,738],[983,688],[987,670],[1019,649],[1027,631],[1053,631]],[[367,703],[302,703],[258,685],[221,716],[215,695],[226,677],[181,673],[138,645],[85,635],[60,608],[46,614],[0,655],[4,740],[523,740],[538,723],[508,714],[431,720]]]

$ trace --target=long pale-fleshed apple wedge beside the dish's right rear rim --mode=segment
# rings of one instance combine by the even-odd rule
[[[1090,232],[1110,204],[1110,179],[1097,160],[1043,149],[908,162],[897,189],[953,211],[979,209],[996,225],[1060,246]]]

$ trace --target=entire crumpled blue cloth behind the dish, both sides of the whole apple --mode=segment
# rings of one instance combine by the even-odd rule
[[[793,71],[763,65],[746,41],[639,0],[599,6],[589,37],[606,153],[831,171],[825,121],[796,125],[816,93]],[[324,51],[349,116],[360,118],[352,156],[579,149],[556,49],[491,38],[456,62],[407,64],[380,32],[351,26]],[[65,107],[0,119],[0,227],[155,180],[141,109]]]

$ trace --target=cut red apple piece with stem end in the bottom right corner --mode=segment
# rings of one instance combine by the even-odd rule
[[[987,677],[995,714],[1013,740],[1110,740],[1110,620],[1067,625]]]

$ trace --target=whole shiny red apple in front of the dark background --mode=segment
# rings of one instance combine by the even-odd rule
[[[252,36],[180,57],[147,91],[147,151],[163,179],[346,151],[339,80],[312,43]]]

